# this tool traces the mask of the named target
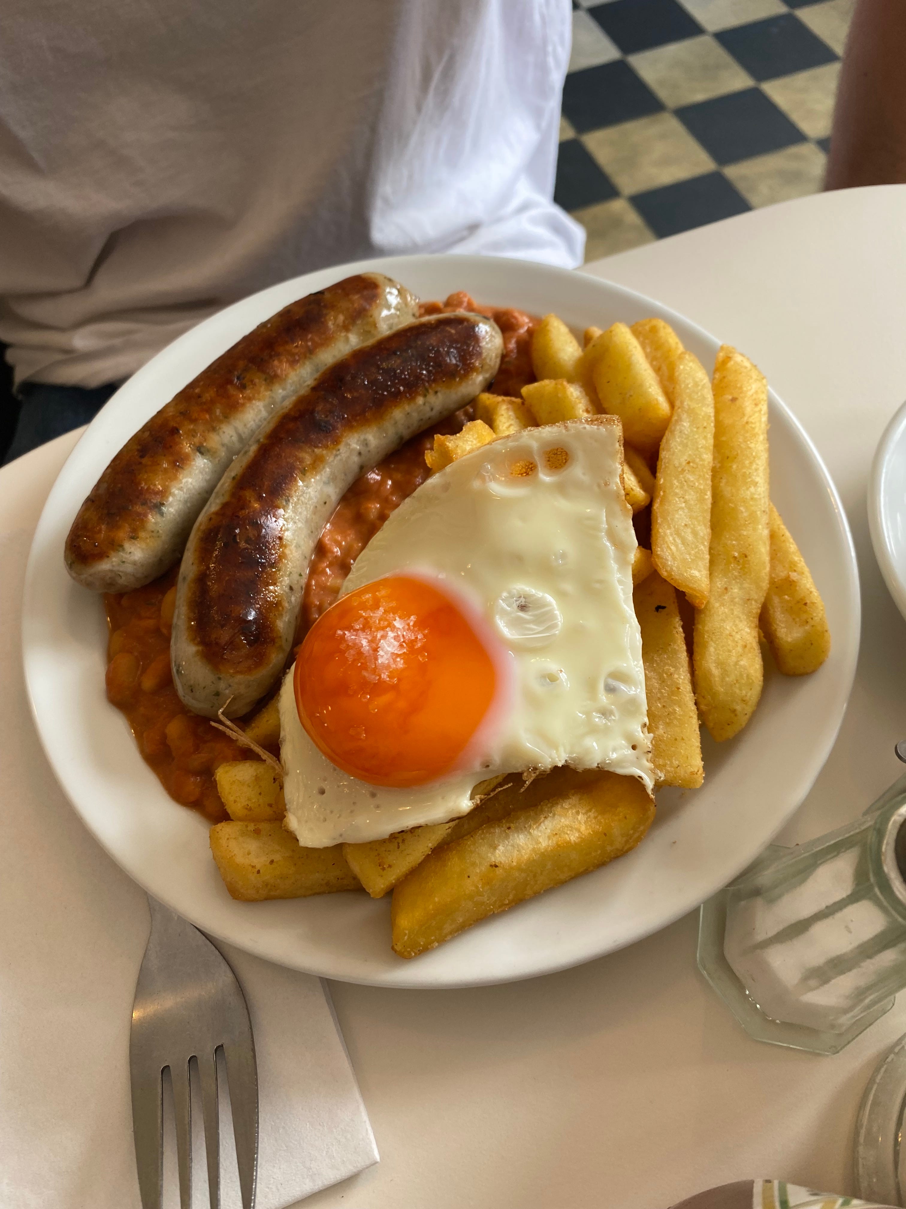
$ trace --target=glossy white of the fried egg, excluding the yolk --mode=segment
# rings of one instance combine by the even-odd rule
[[[602,768],[652,788],[620,442],[605,417],[529,428],[454,462],[388,519],[343,592],[416,573],[469,601],[510,661],[506,707],[466,768],[396,789],[321,754],[298,721],[288,673],[284,793],[300,844],[364,843],[446,822],[469,811],[476,782],[529,768]]]

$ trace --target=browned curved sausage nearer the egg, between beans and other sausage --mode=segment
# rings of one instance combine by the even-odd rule
[[[196,713],[245,713],[279,678],[308,563],[347,488],[496,374],[496,324],[419,319],[349,353],[277,416],[223,475],[182,557],[173,677]]]

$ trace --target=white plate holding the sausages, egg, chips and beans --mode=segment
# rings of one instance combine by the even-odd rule
[[[343,893],[244,904],[227,895],[203,818],[172,802],[104,695],[106,625],[97,596],[63,567],[63,543],[112,455],[163,403],[255,324],[364,267],[422,297],[469,290],[484,303],[556,311],[581,329],[662,316],[710,366],[718,341],[681,316],[608,282],[524,261],[393,258],[310,273],[213,316],[145,365],[88,428],[51,491],[35,533],[23,650],[47,756],[88,828],[123,869],[214,936],[297,970],[387,987],[466,987],[548,973],[631,944],[691,910],[744,868],[795,811],[837,734],[855,671],[859,583],[834,484],[814,446],[771,395],[772,497],[827,607],[834,649],[809,677],[767,676],[747,729],[705,736],[704,787],[658,798],[628,856],[471,929],[413,961],[390,950],[388,901]]]

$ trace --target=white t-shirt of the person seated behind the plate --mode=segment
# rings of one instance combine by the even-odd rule
[[[343,261],[574,266],[569,0],[4,0],[0,340],[99,386]]]

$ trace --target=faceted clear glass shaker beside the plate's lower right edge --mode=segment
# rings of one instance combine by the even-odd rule
[[[704,903],[698,966],[759,1041],[837,1053],[889,1011],[906,987],[906,776]]]

